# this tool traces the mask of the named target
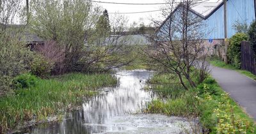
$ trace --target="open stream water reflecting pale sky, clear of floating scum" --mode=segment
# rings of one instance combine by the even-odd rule
[[[107,130],[123,130],[106,124],[109,119],[118,115],[134,114],[145,107],[152,94],[142,90],[152,73],[149,71],[118,71],[116,77],[120,86],[106,88],[105,95],[95,96],[83,104],[83,109],[66,115],[61,123],[49,126],[29,128],[29,133],[103,133]]]

